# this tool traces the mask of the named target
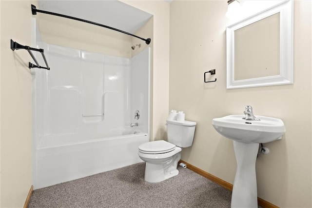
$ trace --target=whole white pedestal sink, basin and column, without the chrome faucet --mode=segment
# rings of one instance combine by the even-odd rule
[[[282,139],[282,120],[257,116],[260,121],[245,120],[245,115],[213,119],[212,125],[222,136],[233,140],[237,170],[232,192],[232,208],[257,208],[255,160],[259,143]]]

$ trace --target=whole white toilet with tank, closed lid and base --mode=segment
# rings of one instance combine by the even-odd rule
[[[146,162],[144,179],[157,183],[179,174],[177,163],[181,148],[193,144],[196,122],[167,120],[168,142],[147,142],[138,147],[138,156]]]

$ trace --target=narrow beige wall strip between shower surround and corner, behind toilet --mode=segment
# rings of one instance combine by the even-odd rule
[[[140,10],[148,12],[153,17],[153,72],[151,74],[152,140],[166,137],[165,120],[168,117],[169,103],[169,12],[170,4],[160,0],[121,0]],[[148,34],[148,33],[147,33]]]

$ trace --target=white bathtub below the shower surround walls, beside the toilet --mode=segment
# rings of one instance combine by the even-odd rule
[[[123,131],[121,134],[125,134]],[[83,139],[75,134],[45,136],[38,146],[34,189],[94,175],[143,162],[138,146],[148,142],[147,133]],[[62,141],[62,145],[59,145]]]

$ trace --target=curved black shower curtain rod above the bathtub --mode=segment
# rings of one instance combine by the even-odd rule
[[[48,12],[48,11],[39,10],[33,4],[31,5],[31,12],[32,12],[33,15],[37,15],[37,12],[39,12],[39,13],[44,13],[44,14],[48,14],[48,15],[55,15],[55,16],[59,16],[59,17],[63,17],[63,18],[68,18],[68,19],[72,19],[72,20],[83,21],[83,22],[86,22],[86,23],[98,25],[98,26],[105,27],[105,28],[108,28],[108,29],[111,29],[111,30],[115,30],[115,31],[120,32],[120,33],[124,33],[124,34],[130,35],[130,36],[136,37],[138,39],[141,39],[142,41],[145,41],[146,44],[150,44],[150,42],[151,42],[150,38],[144,39],[144,38],[138,37],[136,35],[133,35],[131,33],[128,33],[128,32],[125,32],[125,31],[122,31],[122,30],[119,30],[119,29],[116,29],[114,27],[110,27],[110,26],[107,26],[107,25],[104,25],[104,24],[100,24],[100,23],[93,22],[93,21],[88,21],[88,20],[83,20],[83,19],[79,19],[79,18],[67,16],[67,15],[62,15],[62,14],[58,14],[58,13],[54,13],[54,12]]]

